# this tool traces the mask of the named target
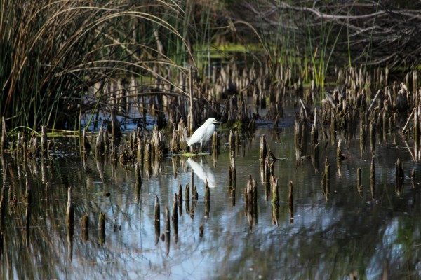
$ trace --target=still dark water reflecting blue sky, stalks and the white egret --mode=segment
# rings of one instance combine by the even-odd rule
[[[225,133],[226,134],[226,133]],[[222,132],[222,142],[226,140]],[[280,158],[279,208],[267,200],[260,174],[260,135]],[[262,128],[243,139],[236,156],[236,194],[229,193],[229,153],[218,158],[166,156],[142,169],[136,189],[135,167],[112,164],[79,150],[79,140],[54,139],[49,160],[19,162],[4,155],[1,173],[17,198],[2,226],[1,279],[421,279],[421,193],[419,164],[399,135],[377,141],[375,182],[370,183],[370,148],[360,155],[359,139],[336,147],[320,142],[319,167],[295,159],[293,128]],[[394,140],[395,138],[396,140]],[[325,158],[330,162],[330,194],[321,188]],[[397,158],[404,160],[403,192],[395,190]],[[362,189],[356,188],[361,168]],[[410,172],[415,169],[415,181]],[[32,190],[29,227],[25,174]],[[186,213],[185,187],[192,182],[198,200]],[[243,190],[249,176],[258,184],[257,216],[250,221]],[[205,181],[210,186],[206,215]],[[293,183],[293,214],[288,186]],[[48,200],[45,186],[48,183]],[[165,209],[182,186],[178,235]],[[66,226],[67,188],[73,190],[74,235]],[[109,193],[109,196],[103,195]],[[161,206],[160,232],[154,227],[154,200]],[[106,214],[105,238],[98,217]],[[89,215],[88,240],[80,219]]]

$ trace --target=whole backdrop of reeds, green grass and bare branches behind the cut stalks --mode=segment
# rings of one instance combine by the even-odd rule
[[[245,46],[244,57],[253,56],[253,62],[265,67],[265,75],[270,74],[268,83],[283,88],[300,78],[323,87],[333,73],[331,64],[352,68],[414,63],[419,44],[411,38],[417,38],[417,10],[402,10],[408,16],[401,20],[399,13],[363,2],[303,1],[294,6],[287,1],[4,0],[1,116],[8,128],[39,130],[47,125],[80,131],[84,113],[110,112],[129,98],[121,97],[119,90],[105,90],[109,82],[133,76],[151,81],[146,93],[140,92],[142,83],[133,87],[143,112],[154,104],[147,104],[142,94],[162,99],[172,92],[181,106],[189,98],[185,85],[190,67],[199,73],[197,80],[203,80],[210,75],[215,54],[234,60],[220,48],[227,42]],[[389,50],[394,41],[403,42],[399,53]],[[175,80],[180,73],[184,84]],[[166,91],[157,86],[163,83],[169,85]],[[100,86],[90,95],[93,85]],[[154,108],[161,114],[164,110]]]

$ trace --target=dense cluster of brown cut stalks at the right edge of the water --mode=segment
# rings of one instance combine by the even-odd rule
[[[297,165],[311,159],[316,172],[319,170],[319,141],[337,146],[338,171],[342,160],[355,157],[342,152],[341,141],[349,142],[359,136],[360,155],[366,157],[370,144],[371,186],[374,193],[375,146],[387,143],[401,135],[413,160],[420,158],[420,98],[417,71],[411,71],[403,81],[391,83],[389,70],[377,69],[374,73],[347,69],[338,71],[338,82],[330,92],[325,92],[321,104],[314,104],[312,88],[296,92],[300,110],[295,115],[294,137]],[[310,108],[314,108],[311,111]],[[397,133],[400,132],[400,133]],[[413,141],[413,148],[409,148]],[[309,143],[310,145],[307,145]],[[403,162],[396,163],[396,193],[402,191]],[[398,168],[399,167],[399,168]],[[402,172],[398,172],[402,170]],[[359,171],[361,172],[361,170]],[[321,172],[321,185],[326,199],[329,194],[329,161]],[[341,176],[341,174],[339,174]],[[360,178],[361,174],[359,174]],[[413,177],[413,176],[412,176]],[[357,184],[360,187],[360,184]]]

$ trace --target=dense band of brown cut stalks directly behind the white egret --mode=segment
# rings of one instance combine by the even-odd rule
[[[272,83],[274,76],[268,67],[254,64],[243,69],[234,63],[213,66],[210,76],[204,70],[198,75],[192,68],[178,75],[169,70],[158,73],[163,78],[154,79],[153,85],[142,84],[134,76],[109,80],[107,86],[98,83],[91,87],[88,102],[91,107],[98,102],[108,104],[98,107],[97,112],[110,116],[114,113],[130,119],[130,115],[140,113],[138,123],[142,127],[147,126],[148,114],[155,118],[158,129],[180,131],[182,120],[188,134],[210,117],[226,126],[238,125],[241,130],[254,129],[259,109],[268,109],[263,117],[276,120],[275,124],[283,117],[290,69],[284,71],[280,64],[275,76],[278,83]],[[93,116],[99,118],[98,113]]]

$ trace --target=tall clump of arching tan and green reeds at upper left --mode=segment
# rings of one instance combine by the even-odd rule
[[[156,69],[170,66],[185,71],[174,60],[192,57],[173,24],[186,20],[182,6],[166,1],[95,4],[1,2],[0,106],[9,126],[74,129],[87,109],[83,94],[94,83],[128,74],[157,77]],[[166,56],[161,38],[169,42],[166,48],[173,43],[180,53]]]

